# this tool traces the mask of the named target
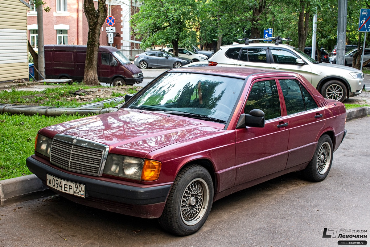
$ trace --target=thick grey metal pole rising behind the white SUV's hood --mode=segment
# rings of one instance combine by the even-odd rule
[[[338,0],[337,64],[344,65],[347,30],[347,0]]]

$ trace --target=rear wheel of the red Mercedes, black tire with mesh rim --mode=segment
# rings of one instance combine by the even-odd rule
[[[319,138],[312,160],[307,165],[302,175],[306,180],[320,182],[329,174],[333,163],[333,142],[324,134]]]

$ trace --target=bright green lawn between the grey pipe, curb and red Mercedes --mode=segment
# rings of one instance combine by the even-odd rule
[[[31,174],[26,158],[34,154],[39,129],[81,117],[0,114],[0,180]]]

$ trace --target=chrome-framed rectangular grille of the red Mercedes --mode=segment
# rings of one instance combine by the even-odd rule
[[[56,135],[51,145],[50,163],[68,171],[100,176],[108,148],[84,138]]]

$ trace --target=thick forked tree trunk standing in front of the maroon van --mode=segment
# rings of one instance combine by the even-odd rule
[[[93,0],[84,0],[84,12],[88,23],[87,50],[85,61],[84,83],[99,85],[98,80],[98,49],[100,46],[100,29],[107,18],[105,1],[98,0],[98,9],[95,10]]]

